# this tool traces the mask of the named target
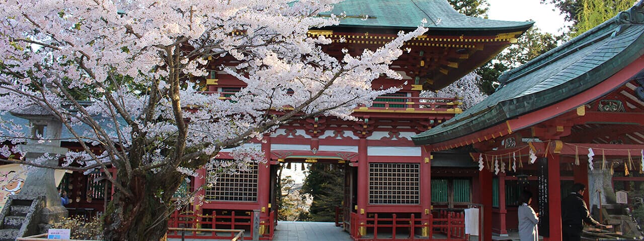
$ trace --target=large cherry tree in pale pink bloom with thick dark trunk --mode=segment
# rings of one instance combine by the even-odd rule
[[[404,53],[404,41],[426,31],[421,21],[381,48],[336,58],[321,50],[330,39],[307,37],[310,28],[339,23],[318,15],[334,3],[3,0],[0,114],[37,105],[62,121],[81,149],[48,167],[104,172],[115,187],[105,238],[158,240],[180,205],[173,193],[196,169],[265,161],[245,148],[236,148],[234,162],[215,161],[223,148],[291,120],[348,120],[358,104],[397,91],[371,82],[401,78],[388,64]],[[231,100],[198,91],[191,80],[213,63],[247,87]],[[0,127],[5,143],[29,138],[10,118]],[[17,146],[1,151],[24,154]]]

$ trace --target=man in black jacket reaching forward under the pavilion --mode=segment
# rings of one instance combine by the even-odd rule
[[[592,219],[591,214],[588,212],[586,202],[583,201],[583,192],[585,192],[585,188],[586,186],[581,183],[573,184],[573,192],[562,201],[563,241],[580,240],[584,222],[596,227],[606,227]]]

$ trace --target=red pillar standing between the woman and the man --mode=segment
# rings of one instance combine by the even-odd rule
[[[548,159],[548,218],[550,237],[544,240],[562,240],[562,197],[560,178],[560,156],[551,154]]]

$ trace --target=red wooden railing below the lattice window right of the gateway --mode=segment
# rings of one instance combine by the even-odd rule
[[[350,235],[354,240],[436,240],[436,241],[465,241],[469,240],[469,235],[465,234],[465,217],[463,213],[444,212],[440,213],[442,217],[429,217],[422,219],[411,215],[408,218],[400,218],[393,214],[390,218],[374,217],[358,221],[357,213],[351,213]],[[364,237],[360,235],[359,230],[365,228],[368,232]],[[378,233],[385,230],[387,238],[378,237]],[[422,234],[419,231],[426,229],[427,233]],[[397,231],[404,230],[404,235],[397,234]],[[416,235],[427,235],[426,237],[417,238]]]

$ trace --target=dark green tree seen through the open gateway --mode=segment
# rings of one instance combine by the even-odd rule
[[[313,197],[309,209],[311,219],[317,222],[333,222],[336,206],[341,206],[344,197],[344,168],[336,164],[310,166],[302,190]]]

